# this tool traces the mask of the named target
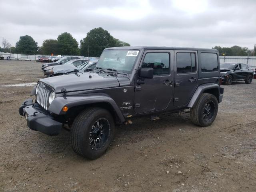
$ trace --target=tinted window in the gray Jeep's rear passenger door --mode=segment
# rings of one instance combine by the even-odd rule
[[[177,73],[191,73],[196,71],[195,53],[177,53],[176,54]]]

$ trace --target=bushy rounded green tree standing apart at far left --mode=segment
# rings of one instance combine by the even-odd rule
[[[38,44],[28,35],[20,36],[20,40],[16,42],[16,52],[19,54],[36,54]]]

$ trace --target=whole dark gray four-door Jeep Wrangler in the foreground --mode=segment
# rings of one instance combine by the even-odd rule
[[[223,92],[218,50],[106,48],[92,72],[39,80],[35,102],[25,100],[19,113],[47,135],[68,125],[74,151],[95,159],[113,140],[115,125],[134,116],[190,110],[194,124],[209,126]]]

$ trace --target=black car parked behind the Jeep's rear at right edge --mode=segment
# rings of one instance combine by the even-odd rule
[[[220,77],[226,85],[231,85],[233,81],[245,81],[246,84],[252,82],[254,70],[243,63],[221,63]]]

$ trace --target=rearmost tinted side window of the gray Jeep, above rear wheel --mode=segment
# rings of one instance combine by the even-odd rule
[[[218,71],[218,57],[216,53],[201,53],[201,71]]]

